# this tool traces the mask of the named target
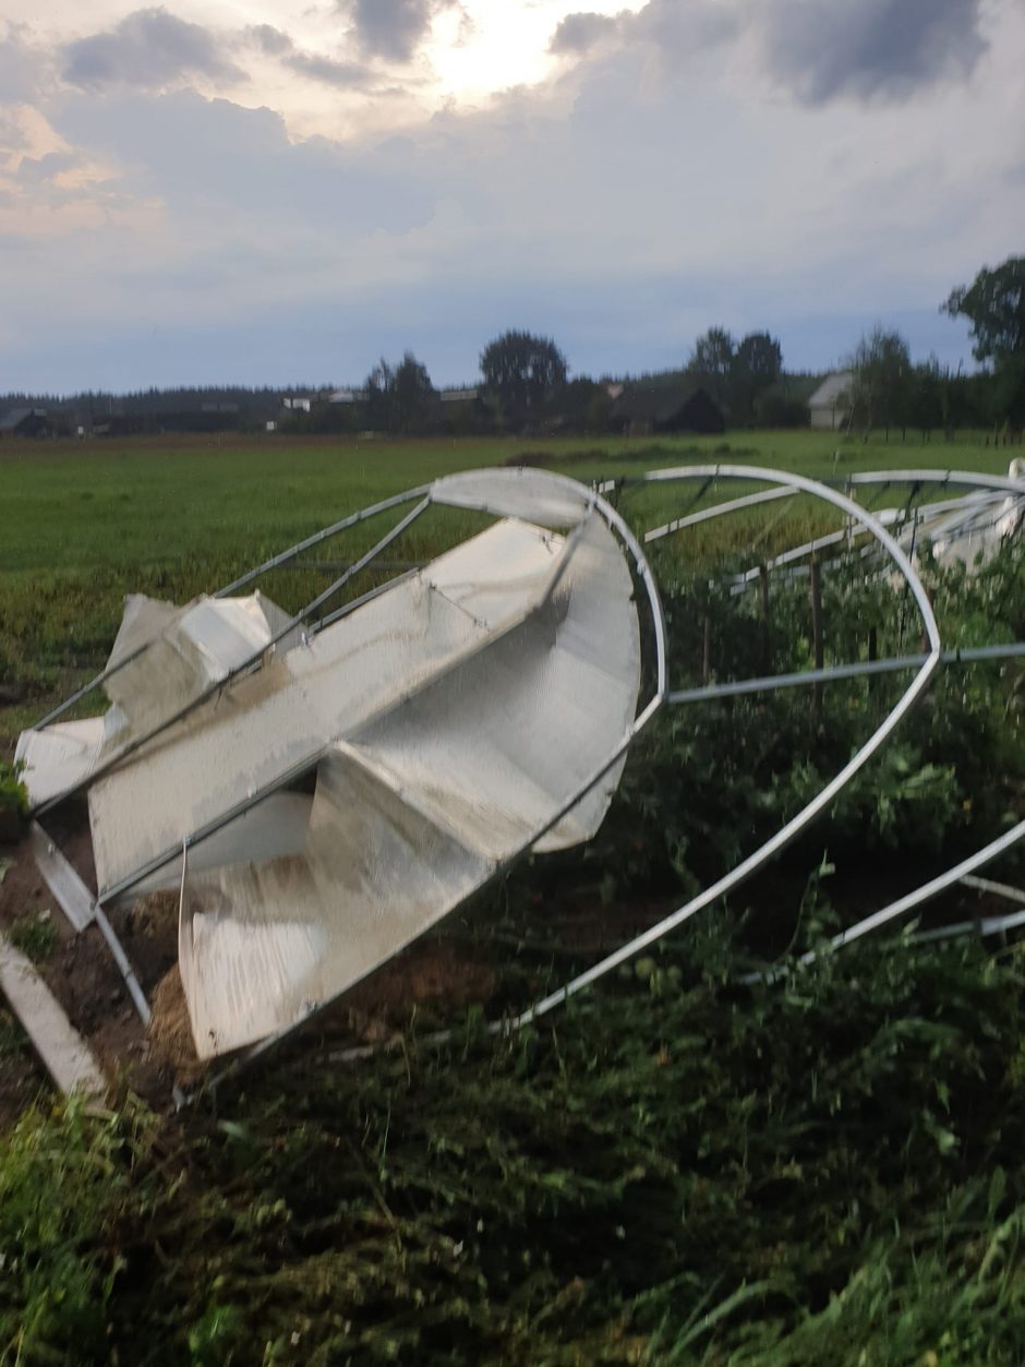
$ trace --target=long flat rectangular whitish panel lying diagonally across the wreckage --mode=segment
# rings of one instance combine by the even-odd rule
[[[239,678],[89,791],[101,891],[508,630],[563,541],[507,519]]]

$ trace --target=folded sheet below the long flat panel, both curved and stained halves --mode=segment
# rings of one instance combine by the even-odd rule
[[[204,1057],[295,1024],[384,964],[537,843],[616,752],[640,685],[630,574],[596,514],[567,555],[518,625],[347,729],[298,857],[190,865],[180,958]],[[544,848],[594,833],[619,768]]]

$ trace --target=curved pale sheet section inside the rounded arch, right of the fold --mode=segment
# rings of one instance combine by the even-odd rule
[[[353,730],[353,749],[492,858],[530,843],[626,735],[640,686],[631,581],[597,514],[551,600],[487,652]],[[538,849],[589,839],[619,768]]]

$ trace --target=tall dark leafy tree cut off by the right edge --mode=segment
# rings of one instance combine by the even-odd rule
[[[983,267],[972,284],[951,291],[942,309],[970,321],[974,357],[994,370],[995,417],[1020,427],[1025,422],[1025,257],[1007,257],[992,271]]]

